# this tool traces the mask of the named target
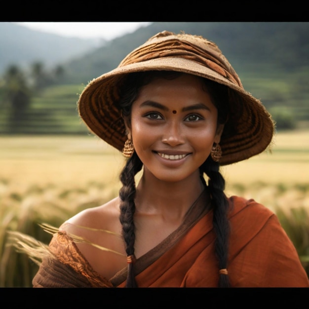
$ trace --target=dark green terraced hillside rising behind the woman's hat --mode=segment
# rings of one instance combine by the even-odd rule
[[[77,94],[89,80],[114,69],[132,49],[163,30],[184,31],[215,41],[245,89],[262,100],[278,123],[307,125],[308,22],[154,22],[64,64],[61,82],[33,97],[30,109],[13,127],[8,123],[8,107],[1,104],[0,91],[0,133],[86,132],[76,111]]]

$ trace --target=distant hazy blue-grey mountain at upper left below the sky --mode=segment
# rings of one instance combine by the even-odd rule
[[[46,66],[55,66],[82,56],[96,46],[95,39],[65,38],[0,22],[0,74],[10,64],[24,67],[40,61]]]

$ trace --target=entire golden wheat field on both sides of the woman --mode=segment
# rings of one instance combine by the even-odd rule
[[[39,227],[62,222],[118,194],[125,162],[97,137],[0,137],[0,287],[29,287],[37,266],[7,245],[18,231],[48,243]],[[227,195],[277,213],[309,273],[309,130],[278,133],[272,153],[222,167]],[[136,180],[140,174],[136,176]]]

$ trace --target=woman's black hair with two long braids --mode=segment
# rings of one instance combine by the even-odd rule
[[[122,115],[129,120],[131,106],[136,100],[142,86],[148,84],[155,77],[173,79],[182,74],[184,73],[169,71],[148,71],[129,74],[123,80],[123,86],[120,88],[120,100],[117,107],[121,110]],[[214,105],[218,109],[218,124],[225,123],[229,114],[227,87],[209,79],[202,79],[206,86],[205,90],[208,91]],[[121,199],[119,219],[122,225],[122,236],[125,242],[127,255],[134,255],[135,226],[133,216],[135,212],[134,197],[136,193],[134,176],[142,169],[142,166],[142,161],[134,152],[127,160],[120,174],[122,188],[119,191],[119,197]],[[210,189],[213,207],[213,227],[217,236],[215,253],[219,261],[219,269],[226,269],[228,261],[229,220],[227,218],[227,213],[229,204],[224,193],[225,180],[219,172],[219,169],[219,163],[215,162],[210,155],[199,168],[201,179],[205,186],[206,182],[203,175],[205,173],[208,176],[208,187]],[[134,264],[128,264],[126,287],[137,286],[134,279],[133,265]],[[228,275],[220,274],[219,287],[228,286]]]

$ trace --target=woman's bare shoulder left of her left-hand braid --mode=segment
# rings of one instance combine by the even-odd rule
[[[80,253],[94,270],[108,279],[126,267],[119,201],[116,197],[104,205],[85,209],[59,229],[85,240],[76,242]]]

